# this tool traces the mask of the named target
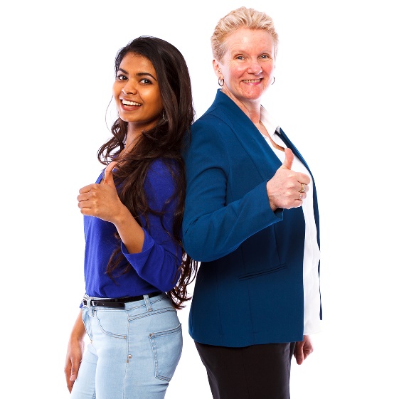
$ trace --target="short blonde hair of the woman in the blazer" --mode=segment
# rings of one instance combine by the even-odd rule
[[[275,54],[277,55],[277,48],[279,43],[279,36],[275,31],[275,23],[267,14],[256,11],[255,9],[248,9],[247,7],[240,7],[230,11],[227,15],[220,18],[211,36],[211,48],[213,58],[221,60],[225,55],[225,39],[239,28],[260,29],[272,36],[275,45]]]

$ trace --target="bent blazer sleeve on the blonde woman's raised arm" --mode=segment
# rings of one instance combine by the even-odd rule
[[[184,154],[187,189],[183,246],[200,262],[228,255],[251,235],[282,220],[282,210],[273,212],[270,208],[267,181],[255,183],[250,191],[234,198],[232,154],[244,149],[230,146],[221,134],[226,129],[231,128],[212,115],[198,119]]]

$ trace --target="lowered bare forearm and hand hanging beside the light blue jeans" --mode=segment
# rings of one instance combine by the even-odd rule
[[[82,320],[82,309],[80,309],[78,318],[76,319],[72,332],[70,333],[65,359],[64,373],[69,392],[71,392],[73,383],[78,376],[83,350],[85,349],[85,342],[83,341],[85,333],[85,325]]]

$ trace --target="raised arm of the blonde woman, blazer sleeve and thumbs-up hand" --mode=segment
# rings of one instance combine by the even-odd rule
[[[213,122],[213,121],[212,121]],[[234,169],[229,147],[220,137],[214,121],[196,122],[186,159],[186,207],[183,218],[183,245],[191,257],[211,261],[228,255],[251,235],[282,220],[282,209],[302,206],[299,190],[309,176],[291,170],[294,156],[286,149],[286,160],[269,181],[255,186],[236,201],[228,202],[228,190],[245,185],[230,176]],[[265,161],[267,161],[265,159]],[[248,156],[248,163],[252,162]],[[248,176],[250,179],[250,176]],[[306,193],[302,193],[306,198]]]

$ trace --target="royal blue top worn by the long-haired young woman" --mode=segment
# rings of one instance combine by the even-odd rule
[[[96,183],[101,181],[103,174],[104,171]],[[149,167],[144,183],[149,207],[161,211],[175,188],[169,169],[163,161],[155,160]],[[118,245],[114,236],[117,229],[113,223],[95,216],[84,216],[86,294],[90,297],[119,298],[171,290],[179,279],[176,271],[181,265],[182,251],[171,240],[161,222],[172,233],[175,210],[176,201],[171,201],[164,210],[163,220],[161,216],[149,213],[149,228],[144,218],[140,218],[144,230],[142,252],[129,254],[122,243],[125,257],[122,269],[127,264],[131,268],[124,275],[114,277],[115,282],[105,274],[105,270],[110,255]]]

